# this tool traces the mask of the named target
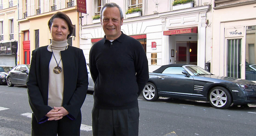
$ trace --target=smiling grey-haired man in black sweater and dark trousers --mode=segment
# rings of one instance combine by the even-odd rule
[[[103,39],[91,47],[89,63],[95,83],[93,135],[137,135],[138,97],[148,81],[141,43],[121,32],[122,9],[105,3],[100,11]]]

